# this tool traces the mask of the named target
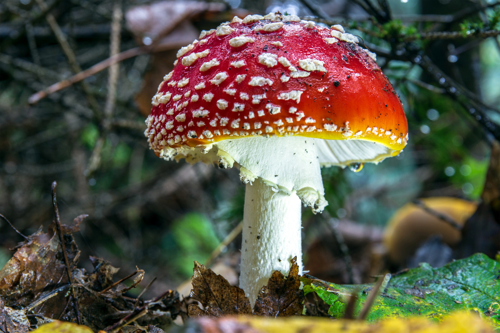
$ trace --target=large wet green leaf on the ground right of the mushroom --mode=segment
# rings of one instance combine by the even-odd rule
[[[304,293],[312,291],[330,305],[328,313],[343,316],[348,296],[355,293],[357,316],[373,284],[336,285],[304,275]],[[454,311],[474,311],[500,328],[500,262],[484,254],[456,260],[441,268],[426,263],[392,277],[376,298],[366,320],[424,316],[440,321]]]

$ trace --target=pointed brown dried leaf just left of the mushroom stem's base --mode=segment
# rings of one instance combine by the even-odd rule
[[[242,289],[231,286],[221,275],[216,275],[196,261],[191,281],[191,297],[199,301],[205,310],[201,311],[191,304],[188,307],[190,317],[251,315],[250,301]]]

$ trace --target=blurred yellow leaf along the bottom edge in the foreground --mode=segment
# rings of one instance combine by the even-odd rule
[[[389,319],[369,324],[352,320],[292,317],[269,319],[262,317],[226,317],[218,320],[196,319],[180,332],[222,333],[493,333],[487,320],[469,313],[456,313],[436,324],[424,318]]]

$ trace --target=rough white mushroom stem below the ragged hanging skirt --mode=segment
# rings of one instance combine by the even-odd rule
[[[302,274],[300,208],[294,192],[275,192],[260,179],[246,184],[239,287],[252,306],[271,274],[287,275],[295,256]]]

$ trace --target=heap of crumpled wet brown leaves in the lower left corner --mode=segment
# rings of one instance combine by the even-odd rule
[[[61,225],[72,285],[68,281],[64,255],[54,224],[48,227],[47,233],[40,228],[16,246],[17,251],[0,270],[0,297],[3,298],[6,309],[0,312],[0,316],[5,318],[4,321],[14,318],[14,314],[17,316],[15,318],[21,318],[26,313],[36,315],[35,326],[42,326],[53,318],[67,322],[80,321],[97,331],[117,323],[132,314],[137,307],[144,306],[143,300],[136,301],[124,295],[140,283],[144,271],[137,269],[138,275],[131,286],[126,287],[122,283],[113,283],[113,277],[119,269],[101,258],[90,257],[94,268],[90,273],[77,268],[79,251],[72,233],[79,231],[79,224],[85,217],[86,215],[80,215],[71,226]],[[74,288],[74,298],[71,286]],[[108,288],[109,290],[101,293]],[[22,307],[25,312],[21,314],[11,309],[16,307]],[[178,294],[172,291],[155,302],[149,302],[145,314],[135,322],[138,325],[152,324],[166,328],[179,312]],[[20,319],[16,321],[19,322]],[[124,327],[123,330],[128,329]]]

